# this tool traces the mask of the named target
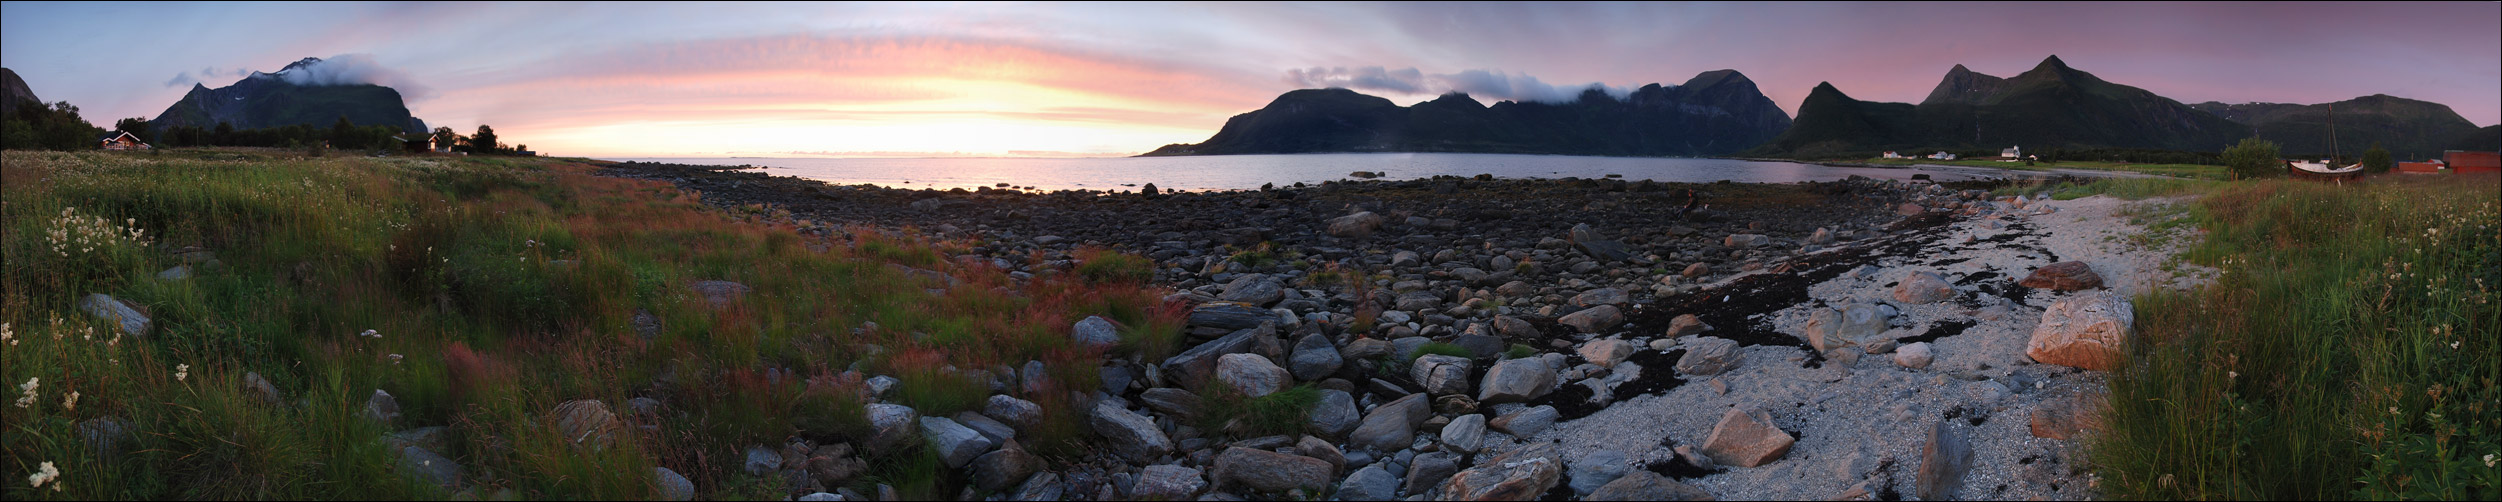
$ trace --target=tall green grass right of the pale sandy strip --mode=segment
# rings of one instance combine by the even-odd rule
[[[2244,182],[2192,207],[2222,267],[2137,300],[2102,487],[2132,500],[2502,497],[2494,177]]]

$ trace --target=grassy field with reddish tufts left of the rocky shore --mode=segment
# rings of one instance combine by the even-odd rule
[[[398,475],[385,435],[413,427],[443,427],[438,455],[463,467],[463,497],[643,500],[668,467],[706,500],[781,500],[778,480],[738,467],[741,450],[861,440],[863,372],[901,377],[888,402],[943,417],[991,395],[971,370],[1013,382],[998,367],[1041,360],[1046,390],[1008,392],[1046,410],[1026,447],[1066,457],[1083,435],[1068,395],[1096,387],[1101,357],[1071,347],[1071,325],[1111,317],[1131,340],[1116,350],[1143,357],[1178,337],[1181,312],[1143,287],[1136,257],[1083,252],[1076,270],[1018,282],[951,260],[973,242],[716,210],[568,160],[0,160],[0,377],[18,397],[0,407],[8,500],[455,497]],[[215,260],[175,255],[185,247]],[[193,277],[158,277],[185,262]],[[703,280],[751,292],[713,305],[693,290]],[[145,310],[148,332],[80,312],[98,292]],[[638,332],[641,312],[656,332]],[[365,417],[375,390],[395,397],[395,422]],[[631,412],[633,397],[661,412]],[[623,417],[618,445],[560,435],[570,400]],[[851,485],[953,497],[961,480],[933,462],[868,457]]]

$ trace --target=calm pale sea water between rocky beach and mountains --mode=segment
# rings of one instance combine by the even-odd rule
[[[1969,167],[1829,167],[1756,160],[1691,157],[1569,157],[1569,155],[1484,155],[1484,152],[1321,152],[1321,155],[1208,155],[1208,157],[613,157],[681,165],[758,165],[771,175],[811,177],[836,185],[883,187],[991,187],[998,182],[1041,190],[1136,190],[1153,182],[1163,190],[1248,190],[1264,182],[1349,180],[1349,172],[1381,172],[1384,180],[1434,175],[1496,177],[1606,177],[1659,182],[1826,182],[1851,175],[1909,180],[2002,177],[2007,172]]]

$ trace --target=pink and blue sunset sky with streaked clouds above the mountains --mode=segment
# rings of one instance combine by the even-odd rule
[[[585,157],[1136,155],[1296,87],[1551,100],[1724,67],[1796,115],[1816,82],[1919,102],[2049,55],[2182,102],[2502,122],[2502,2],[0,2],[0,67],[105,127],[323,57],[428,125]]]

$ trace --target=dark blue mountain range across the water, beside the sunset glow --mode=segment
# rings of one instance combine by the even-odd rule
[[[1449,92],[1411,107],[1354,90],[1291,90],[1233,115],[1196,145],[1146,155],[1254,152],[1544,152],[1544,155],[1731,155],[1789,127],[1754,80],[1736,70],[1684,85],[1644,85],[1626,97],[1584,90],[1571,102],[1481,105]]]

